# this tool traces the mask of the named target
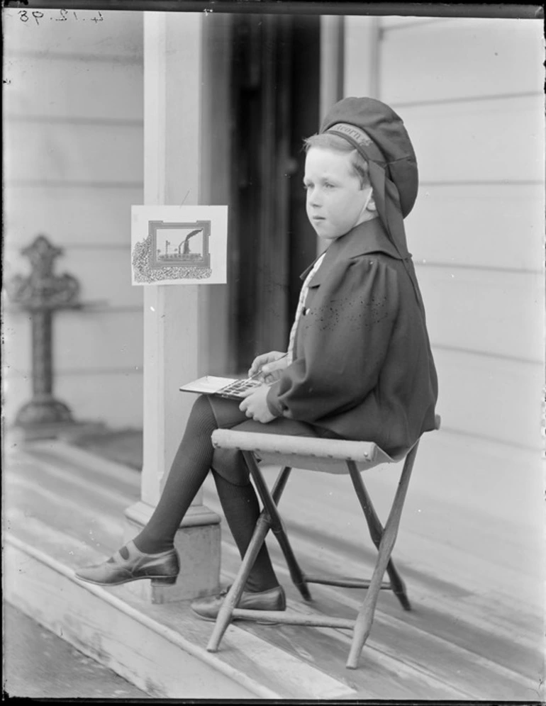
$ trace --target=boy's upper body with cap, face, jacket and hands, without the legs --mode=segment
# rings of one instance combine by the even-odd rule
[[[241,406],[400,454],[434,428],[438,393],[402,220],[417,195],[413,148],[383,103],[345,99],[306,152],[307,215],[328,250],[303,286],[293,350],[249,371],[282,376]]]

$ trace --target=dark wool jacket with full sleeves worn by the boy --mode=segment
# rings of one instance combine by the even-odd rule
[[[435,428],[438,380],[408,269],[414,275],[379,218],[331,243],[309,286],[294,361],[268,393],[272,414],[391,456]]]

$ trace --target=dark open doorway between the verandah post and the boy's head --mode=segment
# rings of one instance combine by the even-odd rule
[[[302,141],[318,129],[320,18],[238,16],[232,69],[232,345],[244,371],[286,349],[299,274],[316,256]]]

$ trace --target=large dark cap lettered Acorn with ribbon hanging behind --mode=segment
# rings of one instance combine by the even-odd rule
[[[419,179],[402,119],[373,98],[344,98],[325,116],[321,133],[325,132],[345,138],[367,160],[379,217],[401,257],[407,257],[402,219],[416,201]]]

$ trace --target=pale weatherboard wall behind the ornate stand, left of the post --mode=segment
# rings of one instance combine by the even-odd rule
[[[4,278],[28,274],[19,250],[38,233],[65,249],[57,273],[76,276],[82,301],[101,306],[55,316],[55,396],[78,420],[141,427],[130,206],[143,203],[142,13],[35,13],[3,13]],[[11,422],[31,395],[30,324],[6,311],[4,327]]]

